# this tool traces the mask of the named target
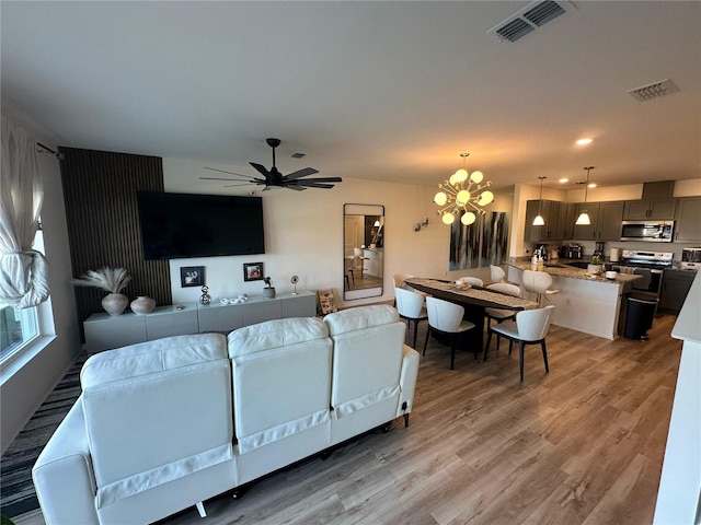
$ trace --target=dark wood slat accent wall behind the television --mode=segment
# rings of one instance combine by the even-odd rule
[[[73,277],[105,266],[126,268],[129,300],[149,295],[171,304],[166,260],[143,260],[136,202],[139,190],[163,191],[163,164],[158,156],[60,148],[64,201]],[[78,318],[104,312],[105,292],[76,287]],[[82,334],[82,327],[81,327]]]

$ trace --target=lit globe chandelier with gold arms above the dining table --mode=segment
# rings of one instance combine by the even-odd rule
[[[460,153],[460,156],[462,167],[438,185],[439,191],[434,196],[434,202],[441,207],[436,214],[441,215],[445,224],[452,224],[462,213],[460,222],[467,226],[476,220],[476,215],[486,214],[483,207],[494,200],[494,194],[487,189],[492,186],[491,182],[482,184],[482,172],[468,175],[464,165],[470,153]]]

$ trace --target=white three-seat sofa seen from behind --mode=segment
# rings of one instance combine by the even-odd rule
[[[48,525],[150,523],[412,410],[418,353],[390,306],[102,352],[39,455]]]

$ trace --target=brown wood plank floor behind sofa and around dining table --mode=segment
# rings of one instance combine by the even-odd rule
[[[550,374],[527,347],[522,384],[504,342],[486,363],[459,352],[450,371],[430,341],[407,429],[397,420],[239,500],[210,500],[205,522],[193,509],[162,523],[650,524],[681,352],[675,319],[658,316],[647,341],[552,326]]]

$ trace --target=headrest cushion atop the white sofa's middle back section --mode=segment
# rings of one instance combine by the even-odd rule
[[[326,337],[326,325],[314,317],[268,320],[229,334],[229,357],[237,358]]]

